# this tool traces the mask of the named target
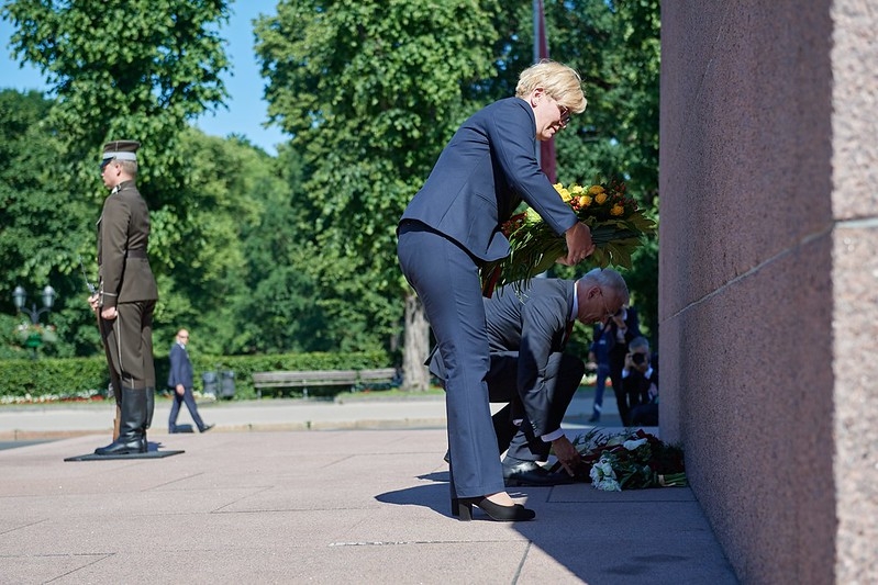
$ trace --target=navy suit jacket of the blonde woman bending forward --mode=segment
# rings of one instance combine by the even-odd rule
[[[577,217],[540,169],[536,142],[526,101],[507,98],[479,110],[455,133],[400,221],[421,222],[481,260],[509,256],[500,225],[522,199],[564,234]]]

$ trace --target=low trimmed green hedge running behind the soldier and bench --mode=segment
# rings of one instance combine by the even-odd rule
[[[274,370],[360,370],[388,368],[390,359],[381,351],[355,353],[281,353],[274,356],[192,356],[195,390],[202,390],[201,375],[234,372],[235,397],[251,398],[254,372]],[[156,390],[166,390],[169,363],[157,358]],[[88,397],[105,394],[110,376],[101,358],[0,360],[0,397]],[[218,389],[219,390],[219,389]],[[330,389],[332,392],[332,390]],[[337,392],[337,389],[335,390]],[[313,393],[312,393],[313,394]]]

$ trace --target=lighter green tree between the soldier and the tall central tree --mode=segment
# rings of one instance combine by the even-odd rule
[[[189,161],[184,187],[174,203],[152,214],[157,247],[168,250],[158,275],[156,331],[171,339],[179,327],[192,329],[210,353],[267,350],[242,335],[262,325],[251,300],[278,267],[254,251],[270,237],[266,229],[285,227],[265,224],[288,213],[277,161],[246,140],[195,128],[184,134],[180,153]]]

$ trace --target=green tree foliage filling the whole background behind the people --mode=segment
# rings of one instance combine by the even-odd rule
[[[393,351],[403,324],[426,339],[396,224],[460,122],[514,93],[533,60],[531,2],[279,1],[255,22],[269,114],[291,138],[277,157],[188,126],[225,95],[227,4],[3,4],[15,54],[53,88],[0,92],[0,285],[58,291],[46,355],[100,351],[78,257],[93,279],[96,162],[118,137],[143,143],[157,353],[181,326],[215,355]],[[552,57],[582,74],[589,100],[558,135],[559,180],[618,175],[657,209],[658,0],[545,7]],[[654,327],[657,243],[634,263],[625,278]],[[14,312],[8,293],[0,307]]]

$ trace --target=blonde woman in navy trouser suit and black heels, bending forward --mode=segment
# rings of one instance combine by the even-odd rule
[[[446,367],[452,514],[471,519],[476,505],[494,520],[530,520],[535,514],[505,493],[491,425],[490,365],[479,267],[509,255],[500,232],[522,201],[582,261],[594,250],[580,223],[536,160],[536,140],[586,109],[581,79],[565,65],[541,61],[525,69],[515,97],[476,112],[452,137],[423,188],[400,220],[397,254],[418,292]]]

